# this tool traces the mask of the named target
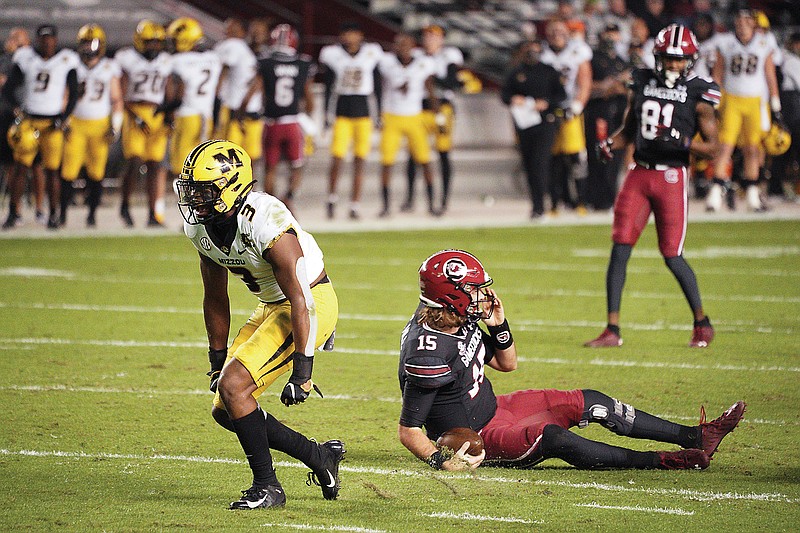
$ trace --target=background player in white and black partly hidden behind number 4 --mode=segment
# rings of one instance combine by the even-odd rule
[[[428,135],[433,138],[433,146],[439,153],[439,173],[442,178],[442,199],[438,208],[440,213],[447,210],[450,196],[450,182],[453,169],[450,162],[450,151],[453,149],[453,126],[455,122],[455,91],[462,87],[459,70],[464,65],[464,55],[455,46],[444,45],[445,32],[442,26],[432,24],[422,30],[422,50],[419,51],[433,59],[436,65],[434,81],[438,109],[433,108],[430,98],[422,100],[422,119]],[[417,52],[415,50],[415,52]],[[408,177],[408,194],[402,206],[403,211],[414,207],[414,185],[416,181],[416,165],[413,156],[409,157],[406,175]]]

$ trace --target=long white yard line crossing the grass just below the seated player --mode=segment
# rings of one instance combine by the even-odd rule
[[[166,455],[166,454],[153,454],[153,455],[138,455],[138,454],[122,454],[122,453],[87,453],[87,452],[65,452],[65,451],[37,451],[37,450],[8,450],[5,448],[0,449],[0,455],[3,456],[17,456],[17,457],[61,457],[71,459],[123,459],[127,461],[182,461],[190,463],[214,463],[214,464],[237,464],[246,465],[247,462],[242,459],[228,459],[221,457],[200,457],[200,456],[187,456],[187,455]],[[275,461],[276,466],[284,468],[301,468],[308,469],[302,463],[296,461]],[[366,466],[346,466],[339,467],[342,472],[351,472],[354,474],[373,474],[379,476],[402,476],[412,478],[430,478],[433,474],[423,471],[395,469],[395,468],[380,468],[380,467],[366,467]],[[621,485],[612,485],[608,483],[573,483],[569,481],[551,481],[551,480],[527,480],[520,478],[510,478],[503,476],[487,476],[487,475],[464,475],[459,473],[444,473],[437,472],[436,476],[446,477],[450,480],[469,480],[469,481],[482,481],[487,483],[510,483],[510,484],[532,484],[537,486],[551,486],[563,487],[569,489],[590,489],[605,492],[621,492],[621,493],[641,493],[656,496],[675,496],[688,500],[696,501],[755,501],[755,502],[768,502],[768,503],[788,503],[798,504],[800,498],[792,498],[781,493],[738,493],[738,492],[714,492],[714,491],[698,491],[690,489],[659,489],[659,488],[644,488],[644,487],[624,487]]]

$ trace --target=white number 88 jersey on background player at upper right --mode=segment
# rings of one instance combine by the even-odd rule
[[[717,38],[717,51],[722,56],[725,73],[722,88],[736,96],[767,94],[764,64],[774,53],[774,47],[765,35],[756,34],[747,44],[742,44],[733,33],[722,33]]]

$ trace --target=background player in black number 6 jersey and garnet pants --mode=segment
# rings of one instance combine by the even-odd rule
[[[311,58],[297,52],[300,36],[289,24],[278,24],[270,34],[270,54],[258,60],[258,75],[253,79],[238,110],[246,114],[247,106],[263,94],[260,107],[266,120],[264,130],[264,191],[275,195],[275,172],[283,156],[289,163],[289,188],[283,197],[291,208],[300,187],[303,169],[303,131],[300,113],[314,112],[311,87],[316,68]]]

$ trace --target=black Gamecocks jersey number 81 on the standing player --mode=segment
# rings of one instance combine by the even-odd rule
[[[694,73],[667,87],[650,69],[633,72],[633,102],[629,113],[636,123],[636,151],[633,158],[648,165],[683,167],[689,164],[689,149],[656,141],[658,129],[674,128],[691,139],[697,133],[697,104],[717,107],[719,86]]]

